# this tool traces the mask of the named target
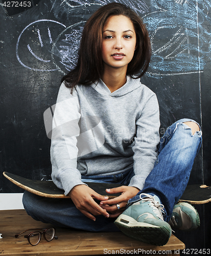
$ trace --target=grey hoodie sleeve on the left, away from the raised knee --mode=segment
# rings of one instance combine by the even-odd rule
[[[81,181],[77,169],[77,137],[80,134],[80,104],[76,90],[74,94],[61,84],[54,110],[51,140],[52,179],[64,194]]]

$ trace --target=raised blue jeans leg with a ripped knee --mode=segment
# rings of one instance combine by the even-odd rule
[[[144,188],[128,201],[128,206],[139,201],[142,193],[156,195],[165,206],[163,219],[170,220],[174,205],[187,186],[202,142],[201,130],[192,135],[191,128],[183,123],[188,121],[195,122],[184,118],[168,127],[158,144],[158,157]]]

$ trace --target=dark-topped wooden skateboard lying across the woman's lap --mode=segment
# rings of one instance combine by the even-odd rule
[[[48,198],[69,198],[64,195],[64,190],[59,189],[52,180],[41,181],[41,180],[30,180],[20,177],[15,174],[4,172],[3,175],[13,182],[15,185],[41,197]],[[98,183],[98,182],[84,182],[90,188],[95,190],[102,196],[108,196],[109,199],[118,197],[118,194],[107,194],[106,188],[113,188],[122,186],[116,183]],[[179,202],[187,202],[191,204],[205,204],[211,202],[211,186],[206,185],[187,185],[182,197]]]

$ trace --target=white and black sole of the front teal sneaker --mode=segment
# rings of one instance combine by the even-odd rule
[[[127,236],[132,239],[157,246],[168,243],[171,237],[171,229],[165,226],[159,227],[148,223],[137,222],[127,215],[121,215],[114,224]]]

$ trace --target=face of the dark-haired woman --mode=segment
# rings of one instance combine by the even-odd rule
[[[123,15],[110,16],[103,27],[102,59],[104,68],[125,68],[132,60],[136,45],[135,29]]]

